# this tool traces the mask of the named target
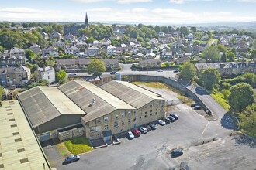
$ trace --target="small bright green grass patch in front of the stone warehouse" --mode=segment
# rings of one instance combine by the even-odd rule
[[[72,138],[70,140],[64,141],[63,143],[67,150],[74,155],[92,151],[92,146],[90,145],[88,139],[85,137]]]

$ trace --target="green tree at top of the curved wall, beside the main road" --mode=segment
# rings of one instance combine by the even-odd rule
[[[184,80],[192,80],[195,76],[196,69],[195,66],[190,62],[185,62],[182,66],[181,73],[179,74],[179,78]]]

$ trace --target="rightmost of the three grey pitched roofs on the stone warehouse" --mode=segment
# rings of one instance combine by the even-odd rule
[[[103,84],[101,88],[136,108],[143,107],[153,100],[164,100],[157,93],[125,81],[114,80]]]

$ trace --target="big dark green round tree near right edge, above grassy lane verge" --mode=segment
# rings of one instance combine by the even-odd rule
[[[254,90],[247,83],[237,83],[230,87],[230,92],[227,100],[230,107],[237,112],[254,103]]]

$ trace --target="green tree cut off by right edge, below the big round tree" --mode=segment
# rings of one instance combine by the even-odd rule
[[[256,138],[256,104],[251,104],[238,114],[240,130]]]

